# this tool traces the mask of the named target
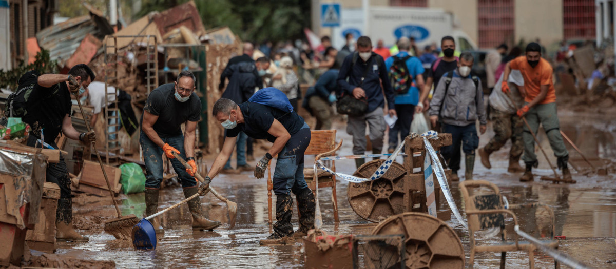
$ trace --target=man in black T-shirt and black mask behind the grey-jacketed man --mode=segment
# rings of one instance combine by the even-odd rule
[[[451,36],[445,36],[440,41],[440,49],[443,50],[444,57],[437,58],[434,63],[428,69],[426,74],[426,85],[421,89],[419,95],[419,103],[416,107],[416,112],[426,111],[429,107],[428,94],[434,83],[434,88],[439,86],[440,78],[447,72],[453,71],[458,68],[458,57],[453,54],[456,49],[456,43]],[[421,104],[421,106],[419,105]],[[434,127],[434,125],[432,125]]]

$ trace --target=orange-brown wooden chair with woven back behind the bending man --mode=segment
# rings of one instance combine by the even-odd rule
[[[336,130],[314,130],[310,131],[310,144],[306,149],[304,155],[317,155],[315,162],[322,157],[333,155],[336,150],[342,146],[342,141],[336,145]],[[267,165],[267,216],[269,217],[269,224],[272,224],[272,190],[274,184],[272,184],[272,172],[270,163]],[[308,167],[309,166],[309,167]],[[336,164],[331,161],[331,170],[336,171]],[[318,176],[318,186],[317,179]],[[336,176],[325,171],[317,171],[314,174],[314,170],[311,165],[304,164],[304,177],[308,187],[314,193],[318,188],[331,187],[331,201],[334,207],[334,221],[338,220],[338,200],[336,198]]]

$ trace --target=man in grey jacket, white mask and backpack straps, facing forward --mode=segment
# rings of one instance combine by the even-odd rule
[[[479,79],[471,76],[473,62],[471,53],[460,54],[458,69],[441,77],[428,111],[432,125],[436,125],[440,117],[441,131],[452,134],[452,145],[442,148],[442,154],[452,170],[452,181],[460,180],[460,147],[464,152],[465,179],[472,179],[475,150],[479,147],[477,120],[479,132],[482,135],[485,133],[484,95]]]

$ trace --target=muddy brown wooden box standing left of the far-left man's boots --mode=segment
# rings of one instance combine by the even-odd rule
[[[28,248],[48,253],[55,252],[55,211],[58,208],[58,199],[60,199],[58,184],[45,182],[38,222],[34,225],[34,230],[26,232]]]

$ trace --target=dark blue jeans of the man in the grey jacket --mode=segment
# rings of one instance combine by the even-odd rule
[[[441,151],[445,160],[449,160],[449,168],[452,172],[460,170],[460,147],[464,154],[475,155],[475,150],[479,147],[479,136],[475,123],[466,126],[448,125],[443,123],[443,133],[452,134],[451,146],[442,147]]]

